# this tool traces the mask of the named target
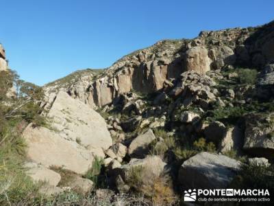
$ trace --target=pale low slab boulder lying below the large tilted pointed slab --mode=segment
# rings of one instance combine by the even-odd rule
[[[23,136],[27,143],[27,157],[47,168],[55,166],[86,174],[94,159],[93,153],[76,141],[66,140],[48,128],[29,125]]]

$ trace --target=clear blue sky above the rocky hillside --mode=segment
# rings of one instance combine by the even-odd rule
[[[273,0],[0,0],[0,42],[10,67],[38,85],[104,68],[136,49],[201,30],[274,20]]]

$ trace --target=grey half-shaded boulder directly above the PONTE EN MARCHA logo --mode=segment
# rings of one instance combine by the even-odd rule
[[[179,169],[179,183],[186,188],[226,188],[240,165],[240,161],[225,155],[201,152],[184,161]]]

